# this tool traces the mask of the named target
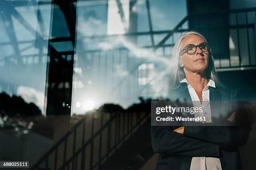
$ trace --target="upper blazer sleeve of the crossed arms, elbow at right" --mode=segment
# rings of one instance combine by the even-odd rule
[[[233,101],[238,101],[237,94],[237,91],[233,91]],[[238,114],[243,115],[243,117],[238,117],[240,117],[240,119],[243,118],[245,120],[245,112],[246,111],[244,109],[240,110],[240,113]],[[238,126],[186,126],[184,127],[183,134],[190,138],[202,140],[204,142],[213,143],[217,145],[231,144],[235,146],[242,146],[246,144],[251,130],[251,126],[248,124],[246,125],[246,123],[243,123],[243,125]]]

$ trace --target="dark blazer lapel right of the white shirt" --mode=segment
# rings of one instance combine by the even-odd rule
[[[212,122],[220,121],[221,95],[218,88],[209,87]]]

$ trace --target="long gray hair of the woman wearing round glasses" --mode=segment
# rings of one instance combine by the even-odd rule
[[[199,32],[189,31],[189,32],[185,32],[184,34],[180,35],[180,37],[178,38],[178,40],[175,43],[173,50],[172,50],[172,60],[171,60],[172,65],[170,67],[170,78],[171,78],[170,87],[171,88],[178,88],[180,86],[179,82],[186,77],[182,67],[180,67],[180,63],[181,63],[180,44],[184,37],[186,37],[187,35],[191,35],[191,34],[198,35],[198,36],[202,37],[205,40],[205,42],[207,42],[205,37],[202,36]],[[221,81],[217,75],[211,49],[209,51],[209,56],[210,57],[209,57],[209,64],[207,67],[207,78],[213,80],[217,87],[224,87],[224,85],[221,83]]]

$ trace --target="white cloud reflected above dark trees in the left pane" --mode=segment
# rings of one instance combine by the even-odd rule
[[[17,88],[17,95],[22,97],[27,103],[34,103],[39,107],[41,112],[44,112],[44,93],[39,92],[32,87],[19,86]]]

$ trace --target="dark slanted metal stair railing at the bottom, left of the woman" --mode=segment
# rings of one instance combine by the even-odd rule
[[[100,127],[98,130],[95,130],[95,115],[99,116]],[[108,120],[103,123],[104,115],[104,113],[92,113],[89,116],[89,119],[91,118],[90,123],[87,122],[90,127],[85,123],[86,120],[88,120],[88,117],[77,122],[69,132],[55,143],[51,149],[32,166],[31,170],[63,170],[69,168],[76,170],[92,170],[100,168],[100,166],[108,160],[108,158],[115,153],[115,151],[118,150],[118,148],[123,145],[123,143],[125,143],[125,141],[128,140],[151,116],[150,113],[146,112],[110,114]],[[79,129],[81,128],[82,131],[80,130],[79,133]],[[85,135],[87,135],[86,128],[91,128],[91,137],[88,140],[85,140]],[[107,138],[103,138],[103,135]],[[81,138],[79,139],[78,136]],[[73,140],[72,146],[69,145],[70,139]],[[97,143],[96,139],[100,142]],[[79,147],[77,146],[77,143],[80,143]],[[61,145],[64,147],[62,148]],[[68,155],[67,151],[70,147],[72,147],[72,153]],[[105,154],[102,153],[103,149],[105,150]],[[87,150],[90,150],[90,152],[86,152]],[[60,151],[63,153],[61,156],[62,158],[59,158]]]

